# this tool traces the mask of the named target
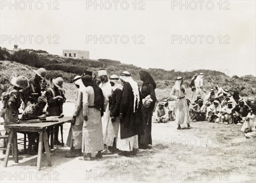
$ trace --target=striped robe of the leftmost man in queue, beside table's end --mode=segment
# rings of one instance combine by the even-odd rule
[[[78,90],[76,107],[73,113],[73,116],[76,116],[76,121],[74,125],[70,126],[70,131],[67,137],[67,146],[69,146],[70,148],[72,147],[73,140],[74,140],[73,146],[75,146],[75,149],[82,148],[82,130],[83,130],[83,121],[84,121],[82,105],[83,105],[82,93]]]

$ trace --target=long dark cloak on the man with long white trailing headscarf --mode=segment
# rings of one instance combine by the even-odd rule
[[[126,82],[122,92],[122,102],[120,106],[120,113],[123,114],[123,118],[120,119],[120,138],[126,139],[139,134],[141,117],[141,97],[139,108],[137,108],[137,101],[134,113],[134,94],[131,85]]]

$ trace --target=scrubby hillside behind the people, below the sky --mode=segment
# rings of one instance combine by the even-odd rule
[[[3,49],[2,49],[3,50]],[[6,50],[6,49],[5,49]],[[8,50],[7,50],[8,51]],[[42,51],[42,50],[41,50]],[[1,54],[1,52],[0,52]],[[21,50],[18,52],[9,52],[9,55],[0,55],[0,58],[6,58],[11,61],[0,61],[0,94],[5,91],[9,86],[9,81],[12,76],[26,75],[28,78],[33,77],[34,72],[39,67],[47,69],[47,79],[61,76],[66,82],[67,96],[72,98],[74,85],[71,84],[74,76],[81,75],[84,70],[90,70],[93,74],[97,70],[105,68],[108,75],[119,75],[124,70],[128,70],[132,77],[141,85],[139,78],[140,67],[132,64],[122,64],[120,61],[113,61],[109,59],[73,59],[64,58],[59,55],[51,55],[48,53],[36,53],[33,50]],[[204,85],[206,90],[210,90],[215,84],[219,84],[223,89],[228,89],[233,93],[239,90],[241,96],[254,96],[256,88],[256,78],[254,76],[227,76],[224,73],[213,70],[196,70],[193,72],[175,72],[175,70],[166,71],[163,69],[148,69],[151,76],[157,82],[157,97],[159,100],[169,99],[169,93],[175,83],[177,76],[183,76],[184,85],[187,87],[188,96],[190,96],[189,83],[190,79],[195,73],[203,72],[205,74]],[[71,93],[70,93],[71,92]]]

